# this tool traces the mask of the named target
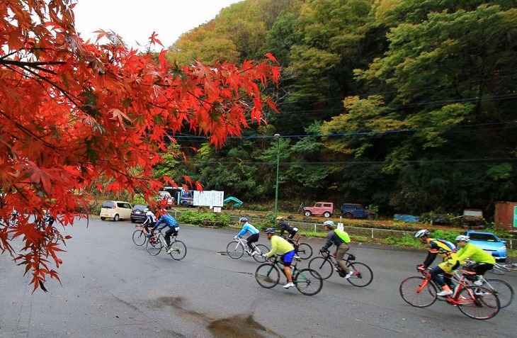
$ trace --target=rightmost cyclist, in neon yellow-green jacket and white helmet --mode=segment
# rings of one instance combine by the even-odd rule
[[[469,264],[465,266],[467,270],[474,271],[478,276],[483,276],[485,272],[494,268],[494,264],[496,264],[496,259],[484,251],[480,247],[476,247],[474,244],[470,243],[470,237],[465,235],[459,235],[456,237],[456,243],[458,243],[458,247],[460,249],[456,254],[458,254],[458,260],[463,263],[465,259],[470,258],[472,261],[475,261],[474,264]],[[475,286],[482,286],[482,281],[475,281]]]

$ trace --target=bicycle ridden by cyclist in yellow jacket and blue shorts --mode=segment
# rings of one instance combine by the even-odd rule
[[[300,293],[316,295],[323,288],[322,276],[312,269],[298,269],[298,261],[300,259],[295,259],[295,264],[291,265],[292,283]],[[258,266],[255,271],[255,280],[263,288],[274,288],[280,282],[280,272],[285,276],[283,268],[283,263],[278,260],[278,255],[274,258],[271,257],[270,262]]]

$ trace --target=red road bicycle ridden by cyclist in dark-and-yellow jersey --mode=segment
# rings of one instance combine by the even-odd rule
[[[419,271],[421,276],[412,276],[404,279],[399,286],[402,299],[416,308],[426,308],[436,302],[438,287],[431,279],[431,270]],[[499,312],[501,303],[497,295],[483,286],[473,286],[467,283],[466,276],[471,276],[470,271],[462,271],[458,279],[458,286],[454,288],[452,295],[445,296],[450,305],[455,305],[467,317],[476,320],[487,320]]]

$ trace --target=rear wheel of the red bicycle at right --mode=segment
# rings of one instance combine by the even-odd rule
[[[458,299],[462,298],[465,298],[465,302],[458,304],[458,309],[467,317],[487,320],[499,312],[499,299],[495,293],[482,286],[462,288]]]

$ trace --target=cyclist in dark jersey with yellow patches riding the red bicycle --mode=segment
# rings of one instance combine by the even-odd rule
[[[443,261],[431,269],[431,278],[442,288],[438,295],[452,295],[451,288],[454,288],[454,283],[451,278],[453,278],[455,269],[460,266],[458,255],[455,253],[455,245],[445,240],[429,237],[429,230],[427,229],[417,231],[415,238],[418,238],[422,244],[428,245],[427,257],[417,269],[424,271],[433,263],[437,255],[443,257]]]

